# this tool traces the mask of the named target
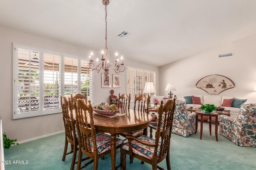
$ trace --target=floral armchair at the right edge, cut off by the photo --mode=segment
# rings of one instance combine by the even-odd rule
[[[220,135],[241,147],[256,147],[256,103],[240,107],[236,119],[220,115]]]

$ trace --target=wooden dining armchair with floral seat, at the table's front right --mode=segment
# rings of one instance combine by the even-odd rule
[[[158,166],[159,162],[166,159],[167,169],[170,170],[170,138],[173,122],[173,114],[175,110],[175,99],[168,100],[163,106],[161,101],[158,108],[159,119],[157,127],[150,125],[150,136],[142,135],[140,137],[133,137],[130,134],[126,135],[128,143],[123,146],[121,158],[122,169],[126,170],[126,154],[130,155],[130,163],[133,158],[137,158],[152,165],[152,170],[162,169]],[[162,120],[162,121],[161,121]],[[153,130],[155,129],[155,137],[153,138]]]

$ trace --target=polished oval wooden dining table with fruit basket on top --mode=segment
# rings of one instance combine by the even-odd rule
[[[151,115],[146,112],[124,108],[119,108],[119,111],[122,115],[117,117],[93,114],[96,131],[110,133],[111,135],[110,156],[112,170],[119,167],[116,167],[116,134],[145,129],[152,120]]]

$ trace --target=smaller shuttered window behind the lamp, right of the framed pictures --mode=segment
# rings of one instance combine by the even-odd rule
[[[135,94],[143,94],[146,82],[153,82],[156,87],[156,72],[143,70],[141,68],[127,67],[127,92],[134,100]]]

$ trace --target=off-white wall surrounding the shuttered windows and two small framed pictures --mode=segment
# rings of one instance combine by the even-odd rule
[[[0,117],[3,124],[3,132],[6,132],[8,138],[24,141],[50,133],[63,131],[62,114],[52,114],[24,119],[12,119],[12,102],[13,102],[13,43],[68,53],[72,55],[85,56],[88,49],[78,47],[61,41],[56,41],[47,37],[34,35],[0,26],[0,59],[1,59],[1,98],[0,98]],[[150,66],[143,63],[129,61],[129,57],[125,58],[125,66],[132,65],[139,68],[156,70],[158,67]],[[110,71],[110,74],[114,72]],[[158,75],[158,73],[157,73]],[[121,73],[121,88],[113,88],[118,93],[126,92],[126,72]],[[159,80],[157,80],[159,81]],[[110,90],[112,88],[101,88],[101,74],[94,74],[94,103],[109,102]]]

